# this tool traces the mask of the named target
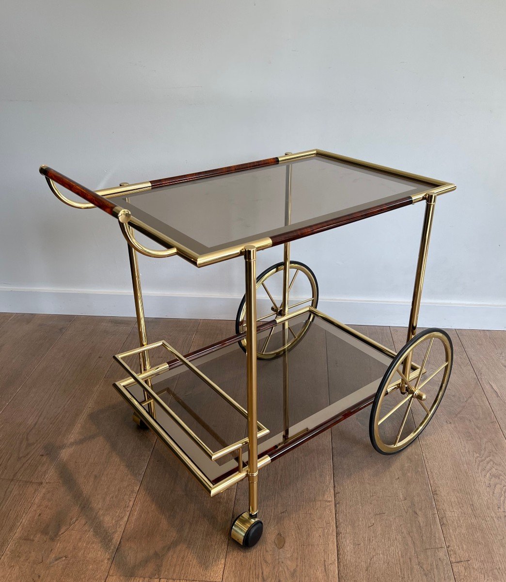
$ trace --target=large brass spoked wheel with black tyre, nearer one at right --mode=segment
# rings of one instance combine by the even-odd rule
[[[419,364],[409,378],[407,359]],[[393,455],[410,445],[429,424],[443,399],[453,363],[453,345],[443,329],[426,329],[395,356],[376,392],[369,420],[373,447]]]

